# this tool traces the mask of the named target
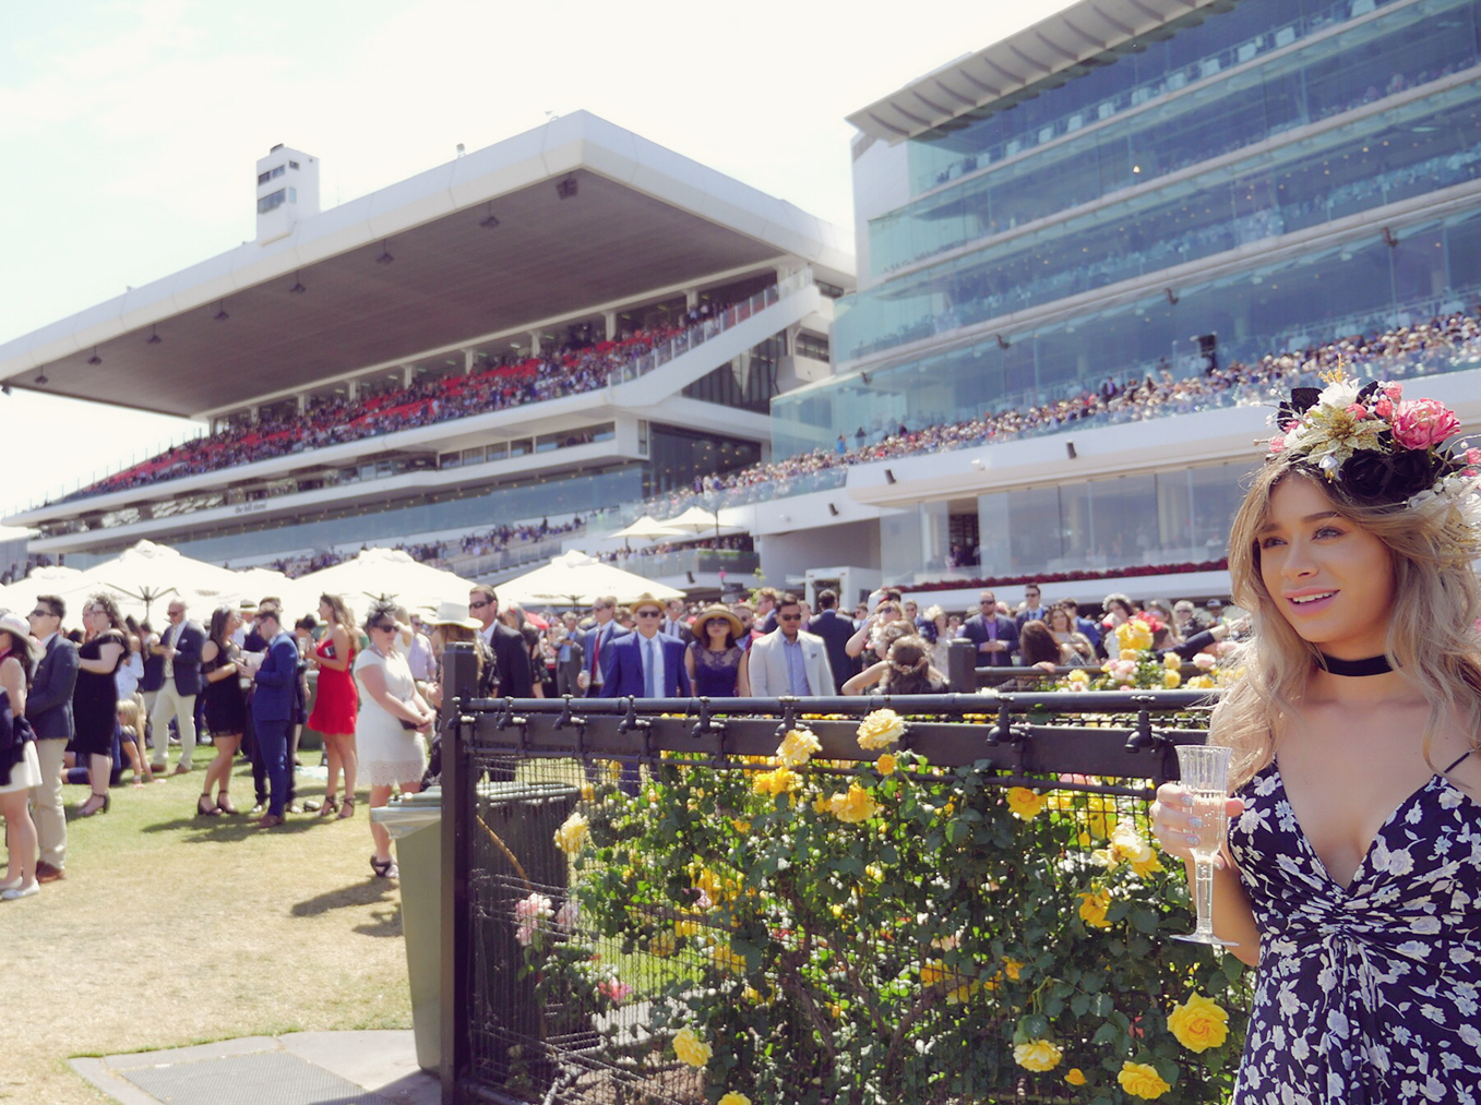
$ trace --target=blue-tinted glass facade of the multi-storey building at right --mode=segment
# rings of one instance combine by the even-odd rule
[[[905,142],[838,375],[773,401],[776,456],[1475,302],[1481,0],[1182,22]]]

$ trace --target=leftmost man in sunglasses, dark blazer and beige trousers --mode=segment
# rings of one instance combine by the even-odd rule
[[[77,646],[62,637],[67,604],[50,594],[37,595],[27,621],[41,643],[41,659],[25,698],[25,717],[36,732],[36,758],[41,763],[41,785],[31,788],[36,835],[41,858],[36,878],[52,883],[65,877],[67,813],[62,809],[64,754],[73,739],[73,687],[77,686]]]

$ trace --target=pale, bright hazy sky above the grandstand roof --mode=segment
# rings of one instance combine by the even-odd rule
[[[252,238],[277,142],[320,158],[330,207],[585,108],[847,227],[844,116],[1065,6],[4,4],[0,341]],[[0,410],[59,443],[0,510],[191,428],[21,391]]]

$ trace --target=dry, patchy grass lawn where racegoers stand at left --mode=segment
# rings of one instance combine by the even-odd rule
[[[238,764],[246,810],[252,772]],[[370,872],[364,792],[350,821],[290,815],[258,831],[246,813],[193,816],[201,778],[116,787],[111,812],[68,824],[67,878],[0,904],[0,1101],[104,1101],[67,1066],[78,1055],[410,1028],[401,896]],[[299,785],[301,798],[323,792]],[[70,807],[86,797],[67,788]]]

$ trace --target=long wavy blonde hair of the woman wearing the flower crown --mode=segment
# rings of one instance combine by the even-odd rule
[[[1429,741],[1454,717],[1481,748],[1481,588],[1468,563],[1445,555],[1441,527],[1432,515],[1404,505],[1371,507],[1351,501],[1340,483],[1328,483],[1300,464],[1260,468],[1229,529],[1229,578],[1237,606],[1250,612],[1253,637],[1228,664],[1243,675],[1225,690],[1213,711],[1210,738],[1234,750],[1229,784],[1238,789],[1275,758],[1281,735],[1300,718],[1300,701],[1320,667],[1320,650],[1281,615],[1260,576],[1259,532],[1271,495],[1287,477],[1305,478],[1336,511],[1376,536],[1389,551],[1394,606],[1388,612],[1383,652],[1395,671],[1429,701],[1423,732]],[[1382,616],[1374,612],[1374,616]]]

